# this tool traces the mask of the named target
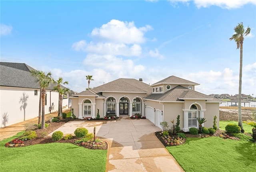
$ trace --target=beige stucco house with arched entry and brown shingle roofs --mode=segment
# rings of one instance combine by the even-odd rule
[[[120,78],[96,88],[80,92],[72,99],[76,117],[95,118],[97,109],[101,117],[108,114],[132,116],[140,113],[154,125],[176,121],[180,115],[180,128],[188,131],[198,127],[196,117],[205,117],[205,127],[212,127],[214,115],[219,126],[220,100],[195,91],[199,84],[170,76],[153,85],[141,80]]]

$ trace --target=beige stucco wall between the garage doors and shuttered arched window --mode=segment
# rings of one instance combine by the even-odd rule
[[[164,121],[167,121],[170,127],[172,126],[170,121],[174,119],[174,124],[176,124],[177,116],[180,115],[180,128],[183,128],[183,106],[184,103],[164,103]]]

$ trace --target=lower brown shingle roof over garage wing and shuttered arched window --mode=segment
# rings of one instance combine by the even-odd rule
[[[202,94],[200,92],[196,92],[194,90],[190,90],[183,86],[176,86],[171,90],[163,93],[163,94],[150,94],[149,96],[145,97],[144,99],[149,100],[158,100],[162,102],[178,102],[188,100],[207,100],[207,102],[221,102],[220,100],[213,98],[211,96],[207,96],[206,94]]]

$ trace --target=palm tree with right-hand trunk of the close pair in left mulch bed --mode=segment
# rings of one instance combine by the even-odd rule
[[[40,88],[42,88],[42,93],[40,93],[42,95],[42,127],[41,129],[45,128],[45,121],[44,121],[44,107],[45,107],[45,95],[46,95],[46,88],[48,88],[50,86],[50,84],[52,82],[54,82],[53,78],[52,78],[52,73],[48,72],[47,74],[42,72],[42,71],[37,71],[37,70],[32,70],[31,71],[32,76],[36,77],[36,82],[39,83]]]

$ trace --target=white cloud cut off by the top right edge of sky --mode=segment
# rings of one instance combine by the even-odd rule
[[[240,8],[246,4],[256,5],[255,0],[169,0],[172,4],[178,2],[186,3],[194,2],[197,8],[208,8],[210,6],[219,6],[220,8],[234,9]]]

